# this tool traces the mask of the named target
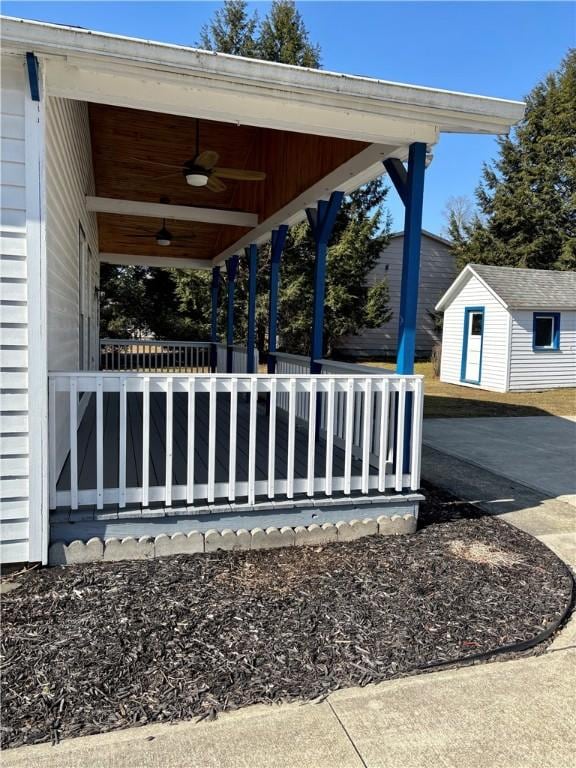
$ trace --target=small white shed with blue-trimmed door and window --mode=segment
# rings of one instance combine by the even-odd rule
[[[495,392],[576,386],[576,273],[468,264],[436,309],[442,381]]]

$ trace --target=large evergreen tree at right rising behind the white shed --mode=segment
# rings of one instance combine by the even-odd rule
[[[479,214],[450,219],[459,266],[576,269],[576,50],[536,85],[498,145],[476,191]]]

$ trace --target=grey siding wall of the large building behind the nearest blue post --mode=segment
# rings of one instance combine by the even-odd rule
[[[388,282],[392,318],[380,328],[366,328],[357,336],[345,336],[339,339],[338,350],[359,357],[393,357],[396,354],[403,247],[404,237],[393,237],[388,247],[380,254],[378,263],[368,276],[369,285],[374,285],[382,280]],[[434,307],[448,290],[455,277],[456,266],[451,249],[444,243],[423,233],[416,325],[417,357],[430,357],[432,347],[437,341],[440,341],[439,334],[434,329],[431,313],[434,312]]]

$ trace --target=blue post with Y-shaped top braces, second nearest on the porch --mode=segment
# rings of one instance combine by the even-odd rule
[[[317,362],[324,355],[324,297],[326,295],[326,254],[328,240],[340,210],[343,192],[332,192],[330,200],[318,201],[318,207],[307,208],[308,223],[316,243],[314,260],[314,297],[312,305],[312,338],[310,344],[310,373],[320,373]]]

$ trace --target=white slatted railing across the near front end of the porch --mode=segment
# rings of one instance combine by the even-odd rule
[[[252,504],[258,497],[400,492],[420,485],[423,392],[418,376],[73,372],[50,374],[49,386],[52,509],[148,507],[158,502],[170,507],[237,498]],[[86,394],[91,405],[83,418],[93,421],[81,425],[78,403]],[[260,395],[266,396],[268,408],[259,405]],[[297,424],[299,395],[308,402],[305,431]],[[278,408],[283,396],[288,398],[286,413]],[[69,425],[67,488],[58,487],[56,469],[56,425],[63,421],[59,409]],[[219,409],[224,410],[217,420]],[[200,412],[204,426],[198,429]],[[319,445],[317,413],[323,437]],[[407,423],[410,450],[405,457]],[[79,440],[81,426],[90,436],[88,447]],[[242,477],[237,476],[240,451],[247,467]],[[129,480],[128,462],[136,482]],[[205,481],[197,480],[196,462]],[[229,468],[224,480],[216,478],[217,462]],[[256,479],[257,465],[266,479]],[[82,474],[86,467],[88,475]]]

